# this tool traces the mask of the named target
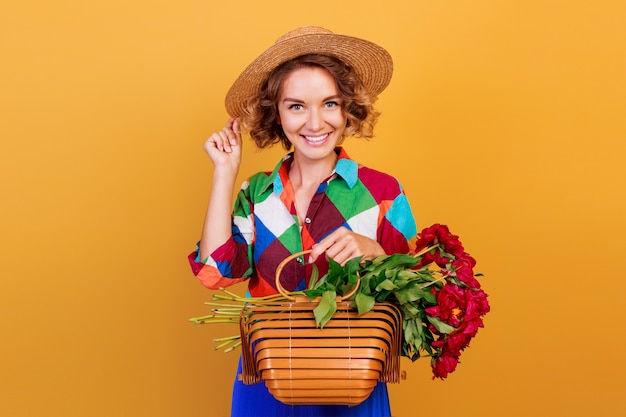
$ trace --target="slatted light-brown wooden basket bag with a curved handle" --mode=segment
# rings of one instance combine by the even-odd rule
[[[398,382],[402,316],[390,303],[375,303],[358,315],[351,294],[337,298],[337,312],[323,329],[317,302],[292,297],[280,285],[286,258],[276,270],[276,286],[290,302],[244,307],[241,314],[242,375],[245,384],[265,381],[285,404],[357,405],[378,381]]]

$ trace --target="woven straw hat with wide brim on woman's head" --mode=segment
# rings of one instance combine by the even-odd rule
[[[330,55],[344,61],[374,96],[387,87],[393,73],[391,55],[375,43],[317,26],[304,26],[278,38],[239,75],[226,94],[228,114],[241,116],[247,100],[259,92],[276,67],[307,54]]]

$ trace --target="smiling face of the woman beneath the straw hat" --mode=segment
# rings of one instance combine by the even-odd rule
[[[347,118],[335,80],[319,67],[298,68],[283,81],[279,123],[298,158],[335,158]]]

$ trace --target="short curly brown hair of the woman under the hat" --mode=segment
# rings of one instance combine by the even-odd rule
[[[279,65],[263,83],[259,93],[250,98],[241,116],[241,124],[261,149],[281,143],[286,150],[291,142],[278,123],[278,100],[283,81],[299,68],[321,67],[335,79],[347,116],[346,136],[369,139],[380,113],[374,109],[377,97],[368,93],[356,73],[343,61],[327,55],[303,55]]]

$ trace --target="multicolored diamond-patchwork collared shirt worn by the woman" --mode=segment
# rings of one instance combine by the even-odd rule
[[[376,240],[386,253],[407,253],[415,220],[402,186],[394,177],[357,164],[337,148],[337,165],[313,196],[300,225],[289,181],[293,153],[272,172],[244,182],[233,211],[232,238],[206,259],[198,248],[189,255],[194,274],[211,289],[249,279],[252,296],[275,294],[275,272],[286,257],[310,249],[344,226]],[[280,282],[288,291],[303,289],[311,274],[306,256],[285,265]],[[316,260],[320,276],[328,260]]]

